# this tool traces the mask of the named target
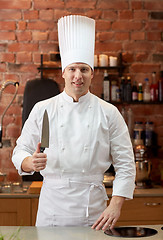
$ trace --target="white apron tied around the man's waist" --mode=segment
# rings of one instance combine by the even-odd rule
[[[107,206],[102,175],[55,174],[45,177],[36,226],[90,226]]]

